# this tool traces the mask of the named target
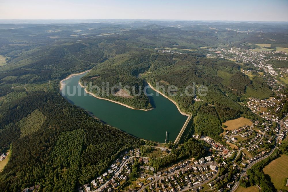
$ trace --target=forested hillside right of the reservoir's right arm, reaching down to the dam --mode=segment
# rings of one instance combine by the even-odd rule
[[[163,56],[159,56],[160,60]],[[153,86],[156,87],[158,82],[159,86],[164,87],[160,91],[167,91],[170,85],[177,86],[177,94],[167,96],[175,100],[182,110],[191,113],[194,118],[194,123],[189,124],[193,129],[185,130],[182,141],[187,140],[187,135],[191,136],[194,132],[220,140],[219,134],[223,131],[221,123],[238,116],[256,118],[253,113],[236,102],[249,86],[255,84],[240,73],[240,67],[236,63],[222,59],[194,57],[189,54],[174,54],[170,58],[164,56],[164,59],[166,66],[159,65],[157,59],[152,60],[149,72],[143,76]],[[185,93],[185,87],[193,83],[197,87],[207,86],[206,96],[201,96],[197,90],[195,92],[194,96],[198,96],[200,101],[194,101],[194,96],[187,96]],[[188,90],[190,94],[193,91]]]

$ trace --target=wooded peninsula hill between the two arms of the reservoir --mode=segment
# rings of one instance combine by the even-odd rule
[[[82,81],[88,82],[87,89],[92,93],[99,90],[90,89],[89,82],[92,82],[92,86],[96,85],[99,88],[103,86],[102,82],[105,82],[105,90],[108,89],[109,92],[108,95],[107,92],[99,95],[100,97],[118,101],[133,108],[151,109],[152,105],[143,92],[145,82],[143,79],[137,78],[137,75],[149,69],[149,57],[150,52],[148,51],[120,55],[120,57],[109,59],[94,67],[82,78]],[[109,86],[106,82],[109,82]],[[117,86],[117,88],[111,90],[113,86]],[[127,96],[115,96],[111,93],[111,91],[116,93],[119,89],[124,89]]]

